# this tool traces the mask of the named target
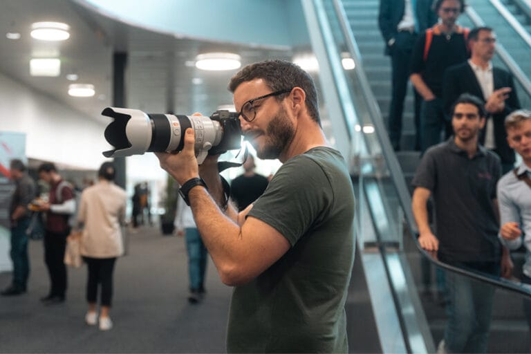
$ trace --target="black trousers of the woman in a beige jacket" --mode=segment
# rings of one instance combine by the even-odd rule
[[[91,304],[97,302],[97,285],[101,284],[100,304],[110,307],[113,298],[113,272],[116,259],[91,257],[83,257],[83,259],[88,269],[86,301]]]

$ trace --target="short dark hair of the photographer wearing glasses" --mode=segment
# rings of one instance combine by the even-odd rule
[[[321,125],[321,118],[319,118],[319,102],[317,101],[317,89],[312,77],[302,70],[297,64],[287,62],[286,60],[266,60],[250,64],[243,67],[236,75],[230,79],[229,91],[234,93],[236,88],[254,79],[263,79],[265,84],[271,88],[272,91],[287,90],[293,87],[300,87],[306,93],[306,107],[308,107],[308,114]],[[277,100],[281,101],[285,95],[277,96]]]

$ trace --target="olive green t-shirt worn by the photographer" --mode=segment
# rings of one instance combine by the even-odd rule
[[[274,227],[291,248],[234,288],[227,351],[346,353],[354,194],[341,154],[317,147],[288,160],[248,217]]]

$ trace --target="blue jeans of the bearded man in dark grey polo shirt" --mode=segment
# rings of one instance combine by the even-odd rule
[[[496,268],[496,265],[493,268]],[[499,273],[499,270],[497,272]],[[494,286],[454,272],[446,272],[446,290],[448,295],[446,306],[448,319],[445,328],[447,351],[449,353],[486,353]]]

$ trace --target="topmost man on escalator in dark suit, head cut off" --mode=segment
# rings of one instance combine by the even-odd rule
[[[391,56],[392,97],[389,107],[389,138],[400,149],[402,112],[409,78],[411,50],[418,34],[436,23],[430,0],[380,0],[378,24],[386,42],[385,54]],[[415,127],[418,140],[420,98],[415,91]],[[416,145],[420,142],[416,141]],[[418,148],[418,146],[416,146]]]

